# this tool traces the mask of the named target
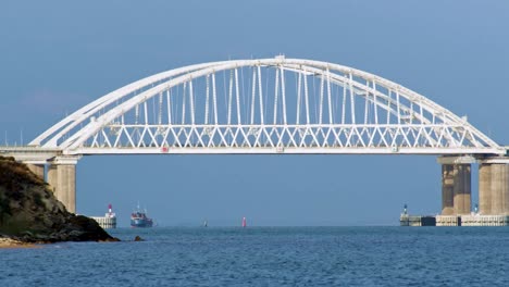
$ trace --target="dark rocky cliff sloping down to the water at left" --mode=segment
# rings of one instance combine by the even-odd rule
[[[0,157],[0,237],[25,242],[116,241],[96,221],[75,215],[42,178],[12,158]]]

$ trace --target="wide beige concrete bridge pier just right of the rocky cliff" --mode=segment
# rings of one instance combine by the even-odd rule
[[[59,157],[48,170],[48,184],[69,212],[76,212],[76,157]]]

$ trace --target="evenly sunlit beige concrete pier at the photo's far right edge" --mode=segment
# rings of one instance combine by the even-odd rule
[[[509,215],[509,164],[507,160],[480,161],[479,201],[484,215]]]

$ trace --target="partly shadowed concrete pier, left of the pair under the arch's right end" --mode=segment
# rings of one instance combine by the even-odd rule
[[[442,215],[470,214],[471,211],[471,157],[440,157]]]

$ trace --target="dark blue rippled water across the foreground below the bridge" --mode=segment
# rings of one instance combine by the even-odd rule
[[[0,250],[0,286],[509,286],[507,227],[120,228]],[[134,242],[139,235],[146,239]]]

